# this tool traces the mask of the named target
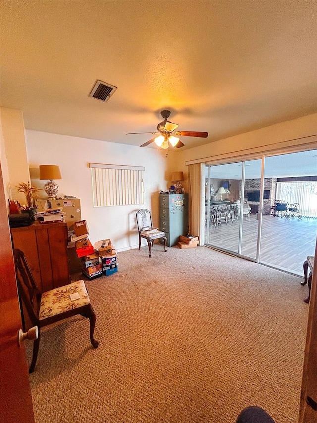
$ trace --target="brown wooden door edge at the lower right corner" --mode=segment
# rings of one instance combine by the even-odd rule
[[[309,302],[299,423],[317,423],[317,240]]]

